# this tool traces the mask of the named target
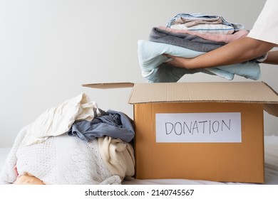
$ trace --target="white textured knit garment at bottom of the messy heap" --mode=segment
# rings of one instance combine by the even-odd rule
[[[97,139],[86,142],[63,134],[25,146],[21,141],[29,127],[24,127],[16,137],[1,171],[0,181],[14,183],[16,166],[19,175],[30,173],[46,184],[121,183],[120,177],[113,176],[105,166]]]

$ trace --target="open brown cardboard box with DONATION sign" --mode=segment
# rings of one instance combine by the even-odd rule
[[[264,182],[263,111],[278,113],[278,95],[267,84],[123,85],[133,87],[136,178]]]

